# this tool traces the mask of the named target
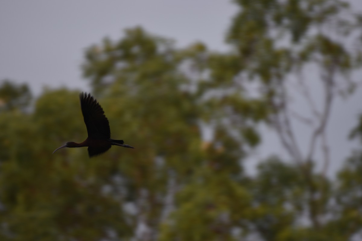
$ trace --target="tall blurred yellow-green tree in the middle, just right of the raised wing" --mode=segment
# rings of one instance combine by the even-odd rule
[[[175,204],[167,203],[167,199],[157,201],[157,197],[169,195],[174,199],[181,186],[194,186],[193,176],[197,178],[203,172],[198,171],[199,168],[203,170],[203,166],[207,165],[206,172],[226,169],[236,176],[240,175],[239,158],[242,151],[222,125],[218,124],[217,142],[201,145],[200,121],[210,118],[215,111],[214,106],[205,108],[212,105],[211,100],[199,104],[205,93],[193,89],[193,64],[202,65],[197,60],[204,53],[203,44],[193,44],[181,51],[174,50],[169,40],[152,36],[140,28],[127,30],[125,38],[119,42],[105,39],[101,46],[90,47],[86,53],[86,76],[91,78],[95,91],[108,93],[111,96],[109,101],[117,100],[117,104],[113,104],[113,113],[118,113],[118,120],[122,120],[121,110],[127,109],[122,113],[127,117],[125,122],[118,126],[128,126],[129,134],[124,132],[125,139],[134,139],[138,143],[136,148],[142,150],[142,153],[133,156],[127,172],[121,171],[133,185],[129,191],[134,194],[129,201],[138,210],[135,225],[147,227],[142,240],[157,237],[158,226],[168,216],[165,213],[176,208],[168,208],[168,205]],[[112,67],[103,72],[98,71],[97,66]],[[106,76],[109,75],[113,82],[107,83],[109,77]],[[235,96],[235,99],[238,98]],[[107,105],[111,102],[105,99],[103,103]],[[245,133],[256,135],[251,127],[245,129]],[[228,146],[228,150],[210,156],[202,146],[216,153],[223,146]],[[223,159],[228,161],[222,163]],[[129,176],[130,173],[135,176]],[[226,172],[224,178],[227,180],[228,176]],[[222,185],[221,180],[218,183]],[[241,194],[233,190],[237,187],[235,181],[230,185],[231,190],[237,192],[233,194],[234,197],[243,193],[243,188]],[[215,191],[216,195],[218,191]],[[145,199],[147,204],[142,201]]]

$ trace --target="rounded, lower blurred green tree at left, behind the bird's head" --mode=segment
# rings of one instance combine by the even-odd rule
[[[1,240],[130,235],[117,198],[104,191],[114,165],[98,159],[88,166],[86,150],[51,154],[54,143],[87,133],[78,94],[47,91],[31,114],[1,113],[0,125],[6,126],[0,141],[6,145],[1,146]]]

